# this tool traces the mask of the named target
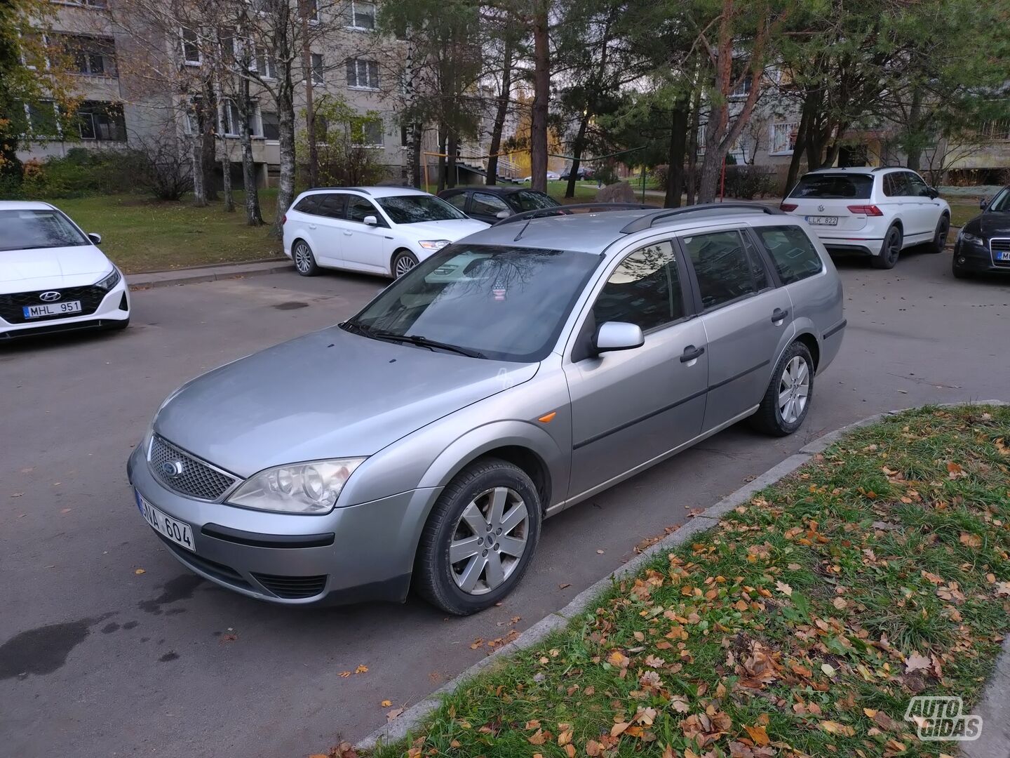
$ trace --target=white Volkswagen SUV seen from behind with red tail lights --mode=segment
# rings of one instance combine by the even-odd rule
[[[780,207],[803,216],[828,250],[869,255],[879,269],[915,245],[942,252],[950,230],[950,206],[908,169],[811,171]]]

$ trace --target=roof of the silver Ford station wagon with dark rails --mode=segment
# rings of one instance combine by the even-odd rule
[[[754,203],[755,210],[761,207]],[[573,250],[584,253],[606,254],[614,243],[629,239],[637,231],[676,232],[684,229],[708,226],[753,226],[769,224],[790,224],[799,226],[796,216],[781,211],[770,214],[747,210],[713,214],[713,208],[699,208],[699,213],[683,212],[669,214],[670,208],[643,210],[606,210],[595,213],[572,213],[564,216],[543,216],[527,221],[498,223],[481,229],[467,238],[475,245],[502,245],[508,247],[542,248],[544,250]],[[654,215],[649,226],[641,222],[640,229],[625,231],[625,227],[638,219]],[[662,219],[662,220],[661,220]],[[516,238],[519,238],[516,240]]]

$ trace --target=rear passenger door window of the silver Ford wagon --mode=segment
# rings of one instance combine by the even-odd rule
[[[738,231],[713,231],[681,240],[694,267],[706,309],[756,292],[750,260]]]

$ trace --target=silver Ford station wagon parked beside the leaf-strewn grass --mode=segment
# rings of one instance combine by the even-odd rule
[[[141,515],[251,597],[413,586],[464,614],[518,584],[547,516],[744,418],[799,429],[845,327],[804,221],[590,210],[512,216],[181,387],[129,459]]]

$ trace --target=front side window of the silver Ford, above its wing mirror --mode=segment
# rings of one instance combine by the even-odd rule
[[[607,279],[593,306],[597,325],[636,323],[642,331],[685,315],[677,255],[669,242],[639,248]]]

